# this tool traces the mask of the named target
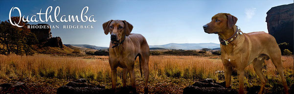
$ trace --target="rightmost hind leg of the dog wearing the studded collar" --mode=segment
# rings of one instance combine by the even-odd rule
[[[288,92],[289,89],[288,89],[287,82],[286,82],[286,79],[284,76],[284,68],[283,68],[282,59],[281,59],[282,58],[281,52],[279,52],[279,54],[277,54],[277,53],[271,54],[270,58],[271,58],[273,65],[275,66],[275,68],[277,69],[278,73],[281,76],[285,94],[289,94],[289,92]]]

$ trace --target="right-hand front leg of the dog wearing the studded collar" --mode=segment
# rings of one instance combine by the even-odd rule
[[[244,69],[238,69],[239,94],[244,94]]]

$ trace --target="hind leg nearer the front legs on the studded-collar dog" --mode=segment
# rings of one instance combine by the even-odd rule
[[[258,75],[258,77],[261,80],[261,86],[260,86],[260,90],[259,90],[258,94],[262,94],[263,89],[264,89],[266,82],[267,82],[267,78],[265,77],[265,75],[262,72],[262,67],[263,67],[262,64],[264,63],[264,60],[265,60],[265,58],[261,58],[261,60],[259,60],[258,58],[255,58],[252,62],[254,71],[256,72],[256,74]]]

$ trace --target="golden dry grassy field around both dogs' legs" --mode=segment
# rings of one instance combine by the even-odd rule
[[[286,60],[283,66],[290,86],[294,83],[293,55],[282,58]],[[135,64],[137,92],[143,93],[138,60]],[[204,78],[224,81],[223,74],[215,73],[224,70],[219,56],[150,56],[149,70],[149,93],[152,94],[181,94],[183,88]],[[0,84],[21,81],[36,94],[55,94],[58,87],[78,78],[87,78],[93,84],[111,88],[110,71],[108,56],[0,55]],[[263,71],[268,79],[265,93],[280,94],[283,88],[271,60],[265,61]],[[121,87],[121,68],[117,74],[117,86]],[[245,90],[260,84],[251,64],[246,68],[245,77]],[[130,85],[129,76],[127,81]],[[232,77],[231,85],[238,89],[237,76]]]

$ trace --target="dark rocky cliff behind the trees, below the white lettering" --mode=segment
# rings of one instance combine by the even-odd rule
[[[48,24],[33,24],[31,25],[31,32],[34,33],[41,46],[45,47],[60,47],[63,48],[63,44],[60,37],[52,37],[50,28],[40,28],[41,26],[47,26]]]

